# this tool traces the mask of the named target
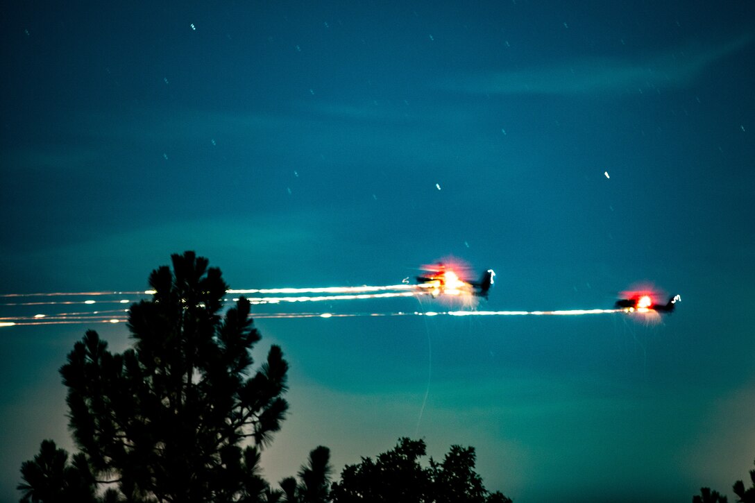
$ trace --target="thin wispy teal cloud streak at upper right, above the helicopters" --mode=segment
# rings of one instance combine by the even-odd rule
[[[682,88],[716,61],[746,47],[751,35],[708,47],[676,48],[645,60],[593,57],[550,66],[502,71],[445,82],[469,94],[621,94],[661,87]]]

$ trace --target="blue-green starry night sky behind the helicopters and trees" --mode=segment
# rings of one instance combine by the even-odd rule
[[[701,0],[5,2],[0,294],[145,289],[184,250],[237,289],[450,256],[495,269],[485,310],[652,283],[683,299],[660,323],[260,319],[256,360],[291,363],[265,475],[408,436],[475,446],[517,503],[731,497],[755,458],[753,26]],[[57,369],[89,328],[128,347],[0,328],[0,501],[43,439],[73,449]]]

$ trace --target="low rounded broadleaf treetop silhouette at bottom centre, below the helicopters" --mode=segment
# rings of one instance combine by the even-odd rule
[[[341,481],[331,486],[334,503],[511,503],[501,492],[488,492],[474,471],[474,448],[451,446],[442,462],[426,454],[423,440],[399,439],[398,445],[377,455],[347,465]]]

